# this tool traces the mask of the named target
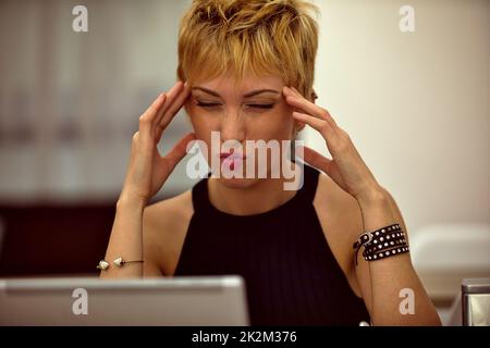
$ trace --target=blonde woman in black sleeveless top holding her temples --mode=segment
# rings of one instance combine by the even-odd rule
[[[193,2],[179,34],[179,82],[143,113],[133,137],[101,277],[241,274],[252,324],[440,324],[412,265],[395,201],[315,103],[311,11],[302,0]],[[194,133],[161,157],[157,144],[183,107]],[[207,145],[219,171],[237,165],[245,173],[257,164],[246,162],[254,153],[213,149],[213,132],[220,146],[244,145],[291,140],[305,125],[321,134],[332,159],[305,147],[310,165],[299,189],[284,189],[284,175],[258,177],[254,170],[253,177],[204,178],[147,207],[192,140]],[[267,161],[265,171],[273,165]],[[389,226],[397,248],[378,236],[390,238]]]

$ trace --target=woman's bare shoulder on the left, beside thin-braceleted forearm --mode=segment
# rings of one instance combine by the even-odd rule
[[[194,213],[192,190],[148,206],[143,215],[145,260],[172,275]]]

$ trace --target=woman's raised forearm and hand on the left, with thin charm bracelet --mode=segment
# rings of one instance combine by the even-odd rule
[[[187,144],[193,134],[182,138],[164,157],[160,156],[157,145],[163,129],[177,113],[189,95],[189,88],[182,83],[168,92],[161,94],[139,117],[139,130],[133,136],[130,164],[121,196],[117,203],[105,261],[107,270],[100,272],[101,278],[143,277],[161,275],[151,245],[144,249],[144,211],[149,199],[162,187],[179,161],[185,156]],[[117,266],[113,261],[137,261]],[[144,261],[144,262],[142,262]]]

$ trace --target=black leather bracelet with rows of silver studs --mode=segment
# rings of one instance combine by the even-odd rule
[[[366,261],[385,259],[409,251],[405,233],[399,224],[363,233],[353,246],[356,249],[356,265],[360,247],[364,247],[363,257]]]

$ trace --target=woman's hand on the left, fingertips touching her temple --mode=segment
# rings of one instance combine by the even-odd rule
[[[188,86],[177,82],[167,94],[161,94],[139,116],[139,130],[133,136],[126,178],[119,201],[131,201],[145,207],[163,186],[175,165],[185,156],[193,133],[184,136],[164,157],[157,145],[163,130],[185,103]]]

